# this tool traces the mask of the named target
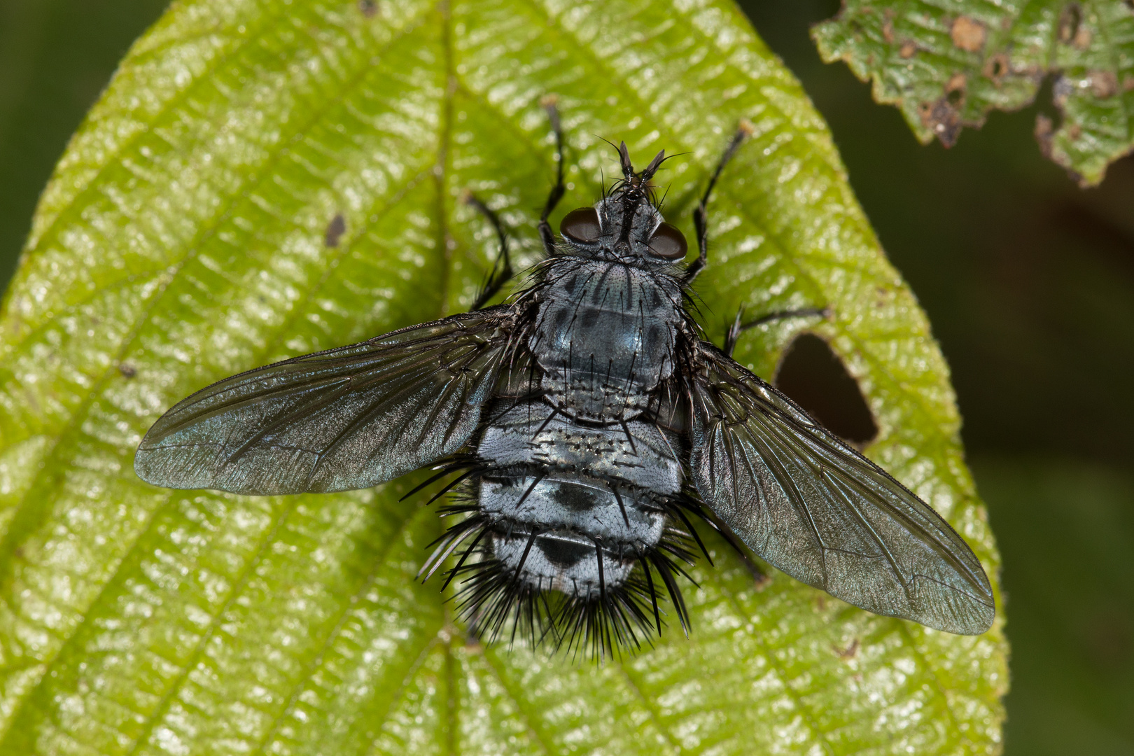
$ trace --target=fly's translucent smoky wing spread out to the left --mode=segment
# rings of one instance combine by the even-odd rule
[[[178,402],[138,477],[246,494],[365,489],[468,441],[509,341],[493,307],[234,375]]]

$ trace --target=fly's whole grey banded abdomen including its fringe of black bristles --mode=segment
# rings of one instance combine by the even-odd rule
[[[660,630],[661,592],[679,601],[682,439],[644,421],[581,423],[543,398],[498,401],[476,442],[474,501],[449,510],[468,517],[431,562],[476,538],[479,558],[454,575],[480,632],[511,623],[592,653],[637,645]]]

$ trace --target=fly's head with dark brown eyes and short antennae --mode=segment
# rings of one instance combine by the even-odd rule
[[[636,173],[625,142],[618,156],[623,179],[594,206],[573,210],[559,224],[568,254],[658,265],[679,262],[688,250],[685,236],[662,220],[650,188],[666,151]]]

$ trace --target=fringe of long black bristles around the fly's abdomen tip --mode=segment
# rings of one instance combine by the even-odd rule
[[[454,459],[426,482],[435,483],[445,475],[463,470],[447,483],[429,501],[432,503],[446,494],[457,499],[439,510],[439,516],[459,517],[431,546],[433,552],[418,574],[429,579],[450,558],[456,564],[445,570],[442,591],[459,579],[459,587],[450,597],[458,615],[468,625],[469,632],[485,643],[507,635],[509,643],[517,638],[531,646],[547,646],[551,651],[564,651],[572,655],[583,654],[598,661],[615,657],[624,651],[640,651],[652,646],[653,638],[662,632],[665,622],[661,598],[668,597],[682,625],[689,632],[689,615],[677,583],[678,577],[692,581],[682,563],[692,564],[696,549],[709,557],[708,549],[693,527],[689,515],[705,518],[700,503],[688,498],[655,501],[655,506],[667,512],[662,537],[653,545],[604,544],[591,538],[598,564],[598,584],[575,586],[565,593],[544,585],[541,577],[535,585],[524,576],[524,566],[534,547],[541,529],[509,517],[489,516],[480,506],[475,487],[476,476],[483,469],[472,459]],[[533,470],[524,493],[518,496],[516,509],[525,501],[547,475],[545,470]],[[521,474],[522,477],[528,475]],[[472,479],[472,484],[469,484]],[[632,499],[623,498],[619,484],[611,482],[610,490],[619,506],[620,519],[629,527],[628,507]],[[424,487],[417,486],[416,491]],[[633,492],[632,498],[635,495]],[[637,501],[637,500],[633,500]],[[717,527],[710,520],[711,527]],[[493,554],[493,534],[497,537],[522,538],[523,553],[518,564],[505,567]],[[459,555],[458,555],[459,554]],[[636,562],[628,579],[616,585],[608,580],[604,554],[628,554]],[[654,572],[661,578],[654,580]],[[662,591],[662,586],[665,589]]]

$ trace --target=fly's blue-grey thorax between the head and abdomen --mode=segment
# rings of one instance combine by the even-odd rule
[[[634,417],[672,375],[680,292],[666,273],[623,262],[552,265],[528,345],[541,388],[574,416]]]

